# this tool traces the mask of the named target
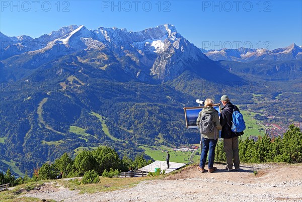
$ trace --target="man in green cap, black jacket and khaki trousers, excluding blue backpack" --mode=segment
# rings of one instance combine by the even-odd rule
[[[220,115],[220,125],[222,126],[221,138],[223,138],[223,148],[226,157],[226,170],[235,170],[240,168],[238,136],[243,135],[243,132],[235,133],[231,130],[233,121],[233,112],[239,109],[230,102],[228,95],[222,95],[220,101],[223,105]]]

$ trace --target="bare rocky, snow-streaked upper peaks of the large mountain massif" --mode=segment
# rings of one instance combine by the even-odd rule
[[[115,27],[88,30],[85,26],[73,25],[36,39],[0,34],[4,44],[1,50],[2,64],[11,71],[16,66],[37,69],[58,57],[72,54],[95,68],[119,66],[121,74],[127,74],[126,77],[131,75],[132,79],[151,83],[171,80],[185,70],[199,73],[207,67],[221,72],[219,79],[230,77],[227,71],[208,59],[169,24],[140,32],[127,32],[126,29]],[[10,75],[2,79],[21,78]],[[206,73],[201,76],[212,79]]]

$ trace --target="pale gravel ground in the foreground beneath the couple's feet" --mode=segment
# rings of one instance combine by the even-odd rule
[[[302,201],[300,164],[249,164],[232,172],[216,166],[213,173],[189,166],[166,179],[142,181],[122,190],[79,194],[49,183],[22,196],[56,201]]]

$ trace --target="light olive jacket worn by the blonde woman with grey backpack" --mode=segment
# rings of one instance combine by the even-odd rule
[[[196,121],[196,124],[199,128],[200,128],[200,119],[204,114],[210,114],[211,115],[212,120],[215,123],[216,130],[213,130],[210,134],[202,134],[202,137],[207,138],[207,139],[218,139],[219,130],[221,130],[221,126],[220,126],[220,123],[219,123],[218,112],[212,107],[206,107],[206,108],[202,109],[202,111],[199,112],[198,118],[197,118],[197,121]],[[216,131],[216,134],[215,134],[215,131]]]

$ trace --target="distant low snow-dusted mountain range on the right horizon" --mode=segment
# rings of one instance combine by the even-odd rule
[[[220,50],[204,50],[200,49],[211,60],[226,60],[226,61],[290,61],[290,60],[302,60],[302,46],[291,44],[286,48],[277,48],[274,50],[267,49],[251,49],[251,48],[239,48],[239,49],[220,49]]]

